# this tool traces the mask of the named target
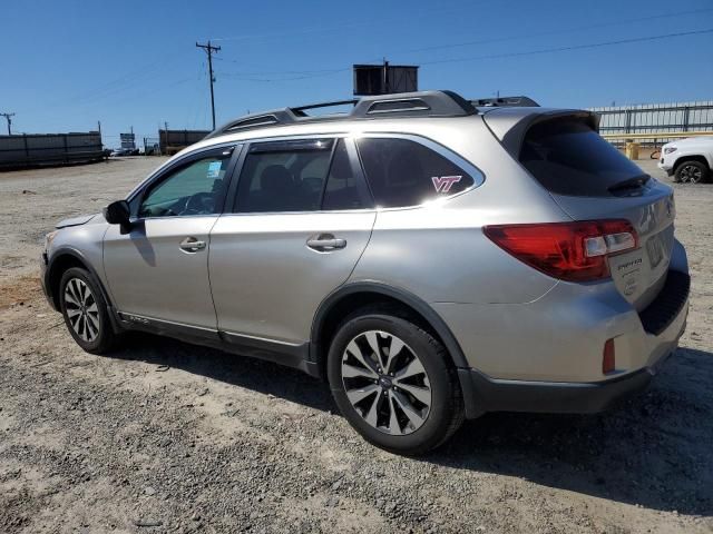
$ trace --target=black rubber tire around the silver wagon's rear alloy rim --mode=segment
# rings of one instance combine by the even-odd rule
[[[421,426],[409,434],[388,434],[385,429],[379,429],[379,425],[372,426],[367,422],[365,411],[360,413],[359,408],[352,405],[346,395],[345,384],[342,378],[342,360],[346,362],[346,356],[344,356],[346,346],[360,335],[372,330],[395,336],[399,340],[404,342],[407,356],[401,357],[409,360],[411,355],[416,356],[426,372],[430,386],[430,409]],[[381,372],[382,369],[379,370]],[[385,372],[385,368],[383,370]],[[417,326],[409,319],[408,315],[401,314],[398,309],[367,307],[348,317],[340,325],[332,339],[328,356],[328,377],[334,400],[352,427],[369,443],[391,453],[409,456],[426,454],[446,443],[463,422],[462,392],[448,352],[433,336]],[[374,384],[381,386],[380,380],[381,378],[374,380]],[[370,385],[369,387],[377,386]],[[395,382],[389,387],[398,392],[394,395],[403,394],[403,389],[397,387]],[[378,390],[377,397],[365,398],[364,402],[371,404],[371,398],[375,398],[374,403],[392,402],[378,400],[381,394],[388,395],[383,393],[383,389],[381,393]],[[390,399],[390,397],[384,398]],[[383,407],[383,404],[381,406]],[[387,412],[395,411],[391,406],[391,404],[387,404]],[[406,412],[398,413],[403,419]],[[406,424],[409,425],[408,421]]]

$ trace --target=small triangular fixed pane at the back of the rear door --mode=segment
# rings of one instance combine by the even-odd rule
[[[354,175],[344,140],[340,139],[334,149],[322,209],[360,209],[371,206],[367,184],[361,176]]]

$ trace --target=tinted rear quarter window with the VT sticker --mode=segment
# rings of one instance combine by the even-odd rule
[[[358,144],[378,206],[418,206],[473,185],[465,170],[416,141],[362,138]]]

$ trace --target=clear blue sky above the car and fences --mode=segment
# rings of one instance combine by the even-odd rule
[[[272,107],[350,98],[352,63],[421,65],[421,89],[592,107],[713,100],[711,0],[3,2],[0,111],[13,132],[85,131],[118,145]],[[573,50],[546,51],[574,47]],[[541,53],[530,53],[543,51]],[[522,52],[526,52],[525,55]],[[4,119],[0,131],[4,130]]]

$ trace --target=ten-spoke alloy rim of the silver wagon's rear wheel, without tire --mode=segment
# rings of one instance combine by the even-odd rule
[[[388,332],[364,332],[346,345],[342,383],[354,409],[385,434],[416,432],[431,409],[431,386],[421,360]]]

